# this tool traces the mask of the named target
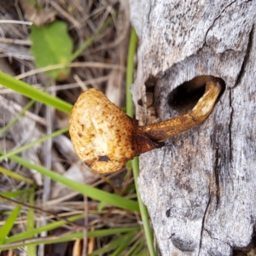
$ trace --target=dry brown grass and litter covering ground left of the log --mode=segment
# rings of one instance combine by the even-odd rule
[[[130,35],[127,1],[42,0],[39,2],[44,6],[42,11],[33,9],[25,0],[0,3],[0,22],[2,22],[0,23],[0,70],[23,79],[36,88],[47,90],[49,94],[72,104],[81,93],[81,87],[92,86],[104,91],[108,98],[119,107],[124,107],[125,62]],[[35,67],[29,51],[31,42],[28,38],[30,31],[26,24],[27,21],[44,24],[48,21],[47,19],[65,20],[75,49],[77,49],[86,38],[102,26],[109,16],[113,18],[113,23],[79,55],[75,61],[76,64],[72,63],[72,73],[66,81],[51,83],[49,78]],[[15,20],[20,24],[4,20]],[[0,101],[0,122],[4,127],[29,100],[5,88],[1,88],[0,93],[1,98],[3,97]],[[1,150],[8,152],[57,129],[65,128],[68,119],[68,114],[35,102],[33,107],[0,137]],[[45,143],[27,149],[20,155],[26,160],[42,164],[73,180],[108,192],[116,192],[119,195],[136,197],[130,172],[126,173],[126,170],[121,170],[106,176],[90,172],[90,169],[84,166],[74,153],[73,145],[67,134],[49,139]],[[99,211],[98,202],[89,200],[60,183],[54,183],[48,177],[43,177],[38,172],[32,172],[10,160],[3,160],[1,166],[19,173],[22,177],[31,178],[37,184],[35,207],[42,210],[42,212],[36,211],[37,226],[50,223],[56,219],[56,215],[67,218],[78,213],[84,214],[84,212],[87,218],[82,218],[76,224],[82,226],[86,224],[89,230],[132,227],[136,226],[139,221],[140,217],[135,213],[118,208],[105,207]],[[26,183],[0,174],[0,192],[26,188]],[[0,225],[4,223],[6,212],[14,208],[15,205],[11,201],[0,202]],[[27,209],[22,207],[22,204],[21,208],[20,217],[16,220],[12,234],[24,230]],[[64,231],[67,231],[65,226],[52,233],[41,234],[41,237],[44,239],[44,236],[61,236]],[[140,236],[142,234],[139,232],[137,237]],[[112,237],[88,239],[87,253],[103,247],[111,240]],[[75,246],[72,242],[39,246],[38,255],[57,255],[57,253],[58,255],[76,255],[75,253],[81,250],[80,243],[81,241],[78,240],[75,241]],[[11,252],[9,250],[9,253]],[[20,249],[9,255],[26,255],[26,252]]]

